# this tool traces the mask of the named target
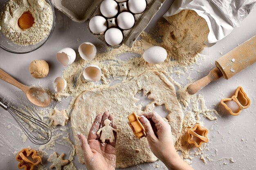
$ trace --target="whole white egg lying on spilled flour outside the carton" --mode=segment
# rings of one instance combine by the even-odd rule
[[[166,50],[161,46],[152,46],[143,53],[143,59],[150,64],[164,62],[167,57]]]

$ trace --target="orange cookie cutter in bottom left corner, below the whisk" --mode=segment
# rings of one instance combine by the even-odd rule
[[[34,166],[41,162],[41,157],[36,155],[35,150],[28,150],[25,148],[18,152],[16,160],[19,161],[19,169],[24,168],[24,170],[33,170]]]

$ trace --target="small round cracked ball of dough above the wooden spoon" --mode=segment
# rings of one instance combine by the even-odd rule
[[[36,79],[46,77],[49,73],[49,65],[45,60],[34,60],[30,63],[29,72]]]

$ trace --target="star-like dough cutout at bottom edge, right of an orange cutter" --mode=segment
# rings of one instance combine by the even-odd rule
[[[56,152],[53,152],[52,155],[47,159],[48,162],[52,162],[50,168],[56,168],[56,170],[61,170],[61,167],[67,165],[68,160],[64,160],[64,153],[58,156]]]

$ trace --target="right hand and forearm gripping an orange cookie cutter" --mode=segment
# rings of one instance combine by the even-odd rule
[[[151,151],[169,170],[193,170],[176,152],[171,126],[160,115],[145,113],[139,121],[145,128]]]

